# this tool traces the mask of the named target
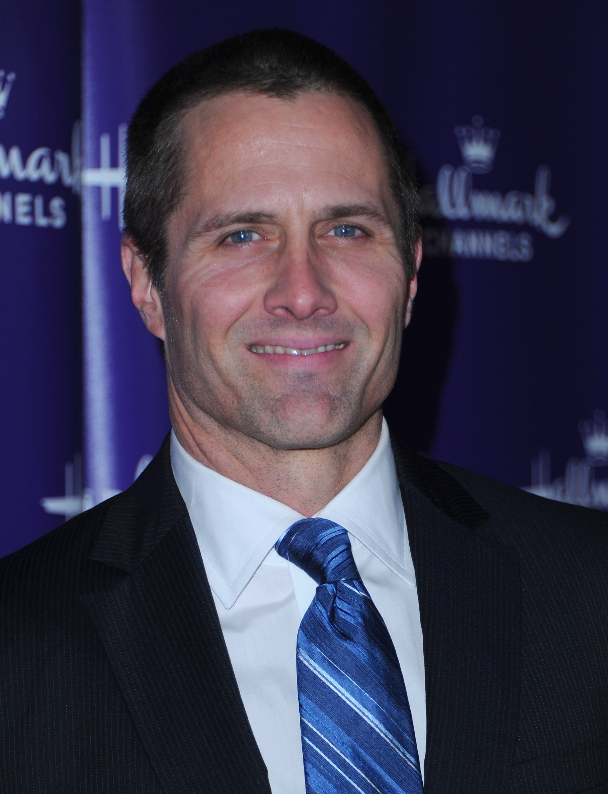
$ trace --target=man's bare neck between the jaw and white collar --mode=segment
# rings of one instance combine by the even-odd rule
[[[364,467],[382,430],[377,410],[356,433],[332,446],[276,449],[207,414],[194,421],[171,387],[169,410],[179,443],[195,460],[309,518]]]

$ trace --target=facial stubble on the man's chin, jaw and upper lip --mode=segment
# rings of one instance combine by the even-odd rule
[[[244,345],[236,345],[244,360],[239,353],[232,360],[224,357],[218,361],[198,338],[194,326],[190,337],[184,333],[180,325],[183,318],[175,318],[168,301],[164,302],[164,315],[167,376],[194,421],[210,420],[272,449],[321,449],[344,441],[378,410],[394,382],[398,350],[396,357],[391,357],[394,361],[383,361],[382,372],[378,372],[380,361],[370,365],[360,354],[354,362],[349,357],[348,367],[341,368],[340,376],[333,380],[325,380],[325,372],[317,369],[277,372],[269,368],[266,376],[264,370],[260,372],[262,362],[248,362],[250,356],[265,354],[244,352]],[[241,327],[238,336],[262,338],[269,330],[282,332],[286,338],[290,333],[306,331],[327,333],[332,338],[338,333],[351,340],[356,353],[370,349],[369,345],[356,345],[357,341],[366,341],[366,333],[344,318],[310,318],[297,325],[273,318],[260,324],[259,330],[256,325]],[[379,395],[369,399],[373,378],[379,379],[379,384],[371,391]]]

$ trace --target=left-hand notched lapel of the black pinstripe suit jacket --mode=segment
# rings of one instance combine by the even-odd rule
[[[110,503],[90,559],[117,569],[81,599],[164,791],[270,794],[168,439]]]

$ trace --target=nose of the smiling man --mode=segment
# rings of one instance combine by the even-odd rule
[[[264,307],[275,317],[298,320],[337,309],[337,300],[328,283],[320,257],[302,245],[287,245],[277,263],[275,281],[264,295]]]

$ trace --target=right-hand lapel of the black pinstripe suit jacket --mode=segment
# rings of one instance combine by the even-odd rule
[[[518,717],[519,567],[440,465],[394,444],[425,653],[425,792],[506,792]]]

